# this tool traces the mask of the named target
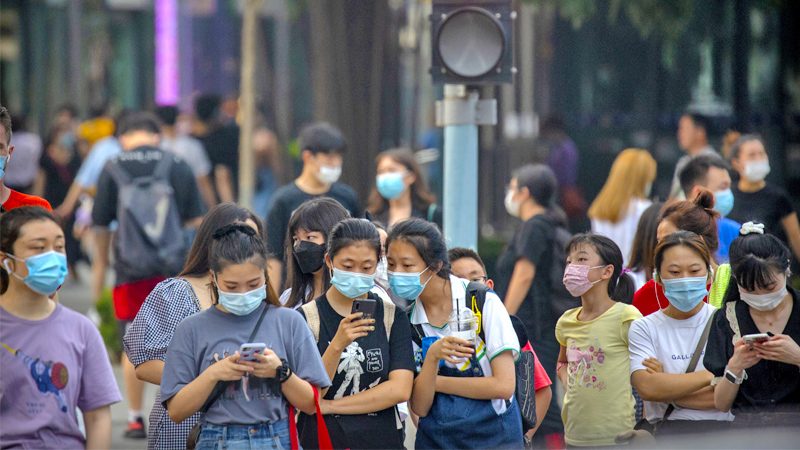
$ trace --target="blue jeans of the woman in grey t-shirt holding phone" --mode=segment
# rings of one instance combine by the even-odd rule
[[[254,425],[217,425],[206,423],[197,440],[197,450],[288,450],[289,422]]]

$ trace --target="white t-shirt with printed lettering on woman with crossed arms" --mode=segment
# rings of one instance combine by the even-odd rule
[[[706,321],[716,311],[706,304],[699,313],[686,320],[673,319],[664,311],[656,311],[649,316],[635,320],[628,331],[628,345],[631,352],[631,374],[637,370],[647,370],[642,362],[647,358],[656,358],[664,366],[665,373],[685,373],[692,359],[697,342],[703,335]],[[705,353],[705,347],[703,348]],[[695,372],[706,370],[703,367],[703,355],[697,362]],[[667,410],[667,403],[644,402],[647,420],[655,422]],[[733,420],[730,412],[721,412],[676,407],[668,420]]]

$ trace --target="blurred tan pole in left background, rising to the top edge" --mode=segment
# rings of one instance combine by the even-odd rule
[[[239,93],[242,123],[239,131],[239,204],[253,207],[255,190],[255,156],[253,155],[253,128],[255,125],[255,60],[256,26],[261,0],[246,0],[242,11],[242,79]]]

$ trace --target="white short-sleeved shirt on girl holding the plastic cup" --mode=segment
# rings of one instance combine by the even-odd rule
[[[463,280],[456,276],[450,275],[450,287],[452,291],[453,308],[467,307],[466,306],[466,287],[469,281]],[[445,324],[442,328],[435,327],[428,323],[428,315],[425,313],[425,306],[421,301],[417,300],[411,306],[410,321],[412,325],[422,325],[422,330],[425,336],[438,336],[445,337],[450,335],[450,326]],[[519,340],[517,334],[514,332],[514,326],[511,325],[511,318],[508,316],[508,311],[497,296],[492,291],[486,293],[486,303],[483,305],[482,311],[482,327],[483,333],[486,336],[486,341],[478,338],[477,357],[478,364],[483,370],[484,376],[492,376],[492,360],[505,351],[511,351],[514,360],[519,357]],[[414,359],[417,362],[417,371],[421,369],[422,363],[422,349],[414,345]],[[449,367],[455,368],[456,366],[445,363]],[[469,361],[464,366],[458,367],[464,371],[469,368]],[[511,400],[509,397],[508,400]],[[500,415],[506,410],[506,402],[503,399],[492,400],[492,406],[495,412]]]

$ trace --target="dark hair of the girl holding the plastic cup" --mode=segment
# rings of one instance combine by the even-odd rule
[[[386,238],[386,248],[394,241],[403,241],[413,246],[425,264],[435,269],[440,278],[450,278],[450,259],[447,257],[447,244],[439,228],[427,220],[410,218],[395,224]]]

